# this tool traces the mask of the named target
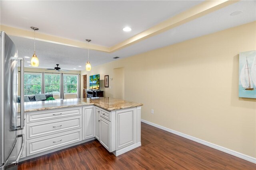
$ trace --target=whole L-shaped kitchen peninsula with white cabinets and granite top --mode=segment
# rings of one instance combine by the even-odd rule
[[[116,156],[139,147],[141,106],[105,97],[27,102],[21,161],[94,139]]]

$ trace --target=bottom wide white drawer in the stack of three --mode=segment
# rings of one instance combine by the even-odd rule
[[[45,138],[32,139],[27,141],[27,154],[37,154],[46,150],[55,149],[81,141],[81,129],[76,131],[68,131],[59,135],[51,135]]]

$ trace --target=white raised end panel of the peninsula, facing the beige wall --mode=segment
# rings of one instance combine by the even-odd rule
[[[117,150],[136,143],[136,113],[136,108],[116,111]]]

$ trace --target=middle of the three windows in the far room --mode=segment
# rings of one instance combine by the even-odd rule
[[[44,74],[44,92],[60,94],[60,74]]]

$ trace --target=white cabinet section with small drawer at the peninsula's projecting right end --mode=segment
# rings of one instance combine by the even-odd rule
[[[94,114],[95,137],[109,152],[118,156],[141,145],[140,107],[113,111],[95,107]]]

